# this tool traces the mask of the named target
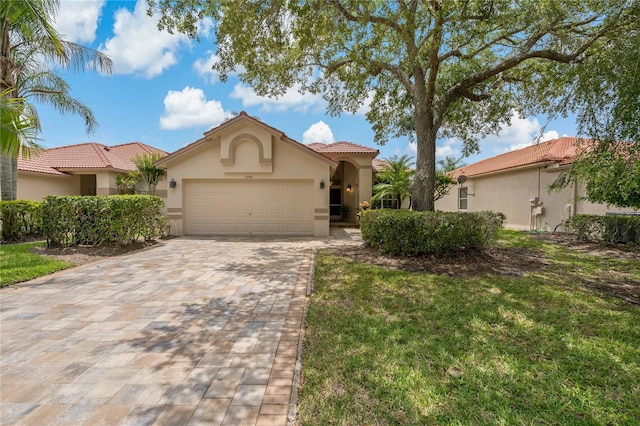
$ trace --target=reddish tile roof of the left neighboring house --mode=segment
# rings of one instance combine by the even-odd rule
[[[166,152],[140,142],[114,146],[88,142],[21,156],[18,158],[18,170],[49,174],[61,174],[61,170],[67,169],[135,170],[131,159],[152,152],[166,155]]]

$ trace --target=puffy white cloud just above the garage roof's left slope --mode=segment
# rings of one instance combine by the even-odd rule
[[[224,110],[220,101],[208,101],[202,89],[187,86],[180,92],[167,92],[160,127],[166,130],[205,126],[211,128],[229,117],[231,113]]]

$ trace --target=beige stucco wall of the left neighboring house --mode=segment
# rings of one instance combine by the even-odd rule
[[[80,195],[79,177],[18,173],[18,199],[41,201],[47,195]]]

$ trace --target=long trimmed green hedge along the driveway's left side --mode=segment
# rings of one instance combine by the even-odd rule
[[[150,195],[50,196],[42,203],[43,235],[54,246],[150,240],[165,233],[162,206]]]

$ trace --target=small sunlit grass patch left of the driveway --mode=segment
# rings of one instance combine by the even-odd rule
[[[53,259],[30,250],[45,243],[3,244],[0,246],[0,287],[32,280],[70,268],[73,263]]]

